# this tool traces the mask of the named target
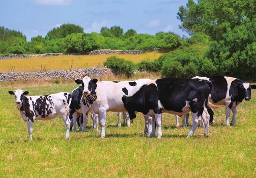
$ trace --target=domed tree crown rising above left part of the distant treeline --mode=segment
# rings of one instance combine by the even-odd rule
[[[66,36],[71,35],[72,33],[83,33],[83,31],[84,29],[81,26],[67,23],[50,30],[47,33],[46,38],[50,40],[65,38]]]

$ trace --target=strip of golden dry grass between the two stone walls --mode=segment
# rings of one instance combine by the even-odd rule
[[[115,55],[125,60],[138,63],[142,60],[154,60],[158,58],[161,53],[144,53],[140,55]],[[45,58],[27,58],[27,59],[7,59],[0,60],[0,72],[10,72],[12,66],[15,66],[14,71],[40,71],[41,65],[45,66],[44,71],[51,70],[69,70],[72,65],[72,69],[76,68],[89,68],[103,67],[103,62],[112,55],[62,55]],[[43,69],[42,69],[43,70]]]

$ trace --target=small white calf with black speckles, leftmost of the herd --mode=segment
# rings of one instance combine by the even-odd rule
[[[9,91],[9,94],[14,95],[20,115],[27,122],[29,139],[32,139],[33,122],[35,120],[50,120],[57,116],[62,117],[66,126],[66,139],[69,138],[69,100],[70,94],[61,92],[46,96],[28,96],[28,91],[20,89]]]

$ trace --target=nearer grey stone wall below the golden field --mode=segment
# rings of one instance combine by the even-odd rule
[[[12,73],[0,73],[0,82],[10,82],[10,81],[32,81],[32,80],[42,80],[51,81],[53,79],[63,79],[63,80],[74,80],[82,79],[85,75],[99,77],[102,75],[112,74],[109,68],[83,68],[74,69],[70,71],[46,71],[46,72],[12,72]]]

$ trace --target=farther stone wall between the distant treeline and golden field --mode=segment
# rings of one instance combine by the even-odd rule
[[[165,49],[143,49],[143,50],[110,50],[110,49],[100,49],[94,50],[91,52],[79,52],[79,53],[70,53],[70,54],[62,54],[62,53],[48,53],[48,54],[38,54],[38,55],[0,55],[1,59],[16,59],[16,58],[43,58],[49,56],[57,56],[57,55],[116,55],[116,54],[130,54],[130,55],[138,55],[143,54],[145,52],[169,52],[170,50]]]

